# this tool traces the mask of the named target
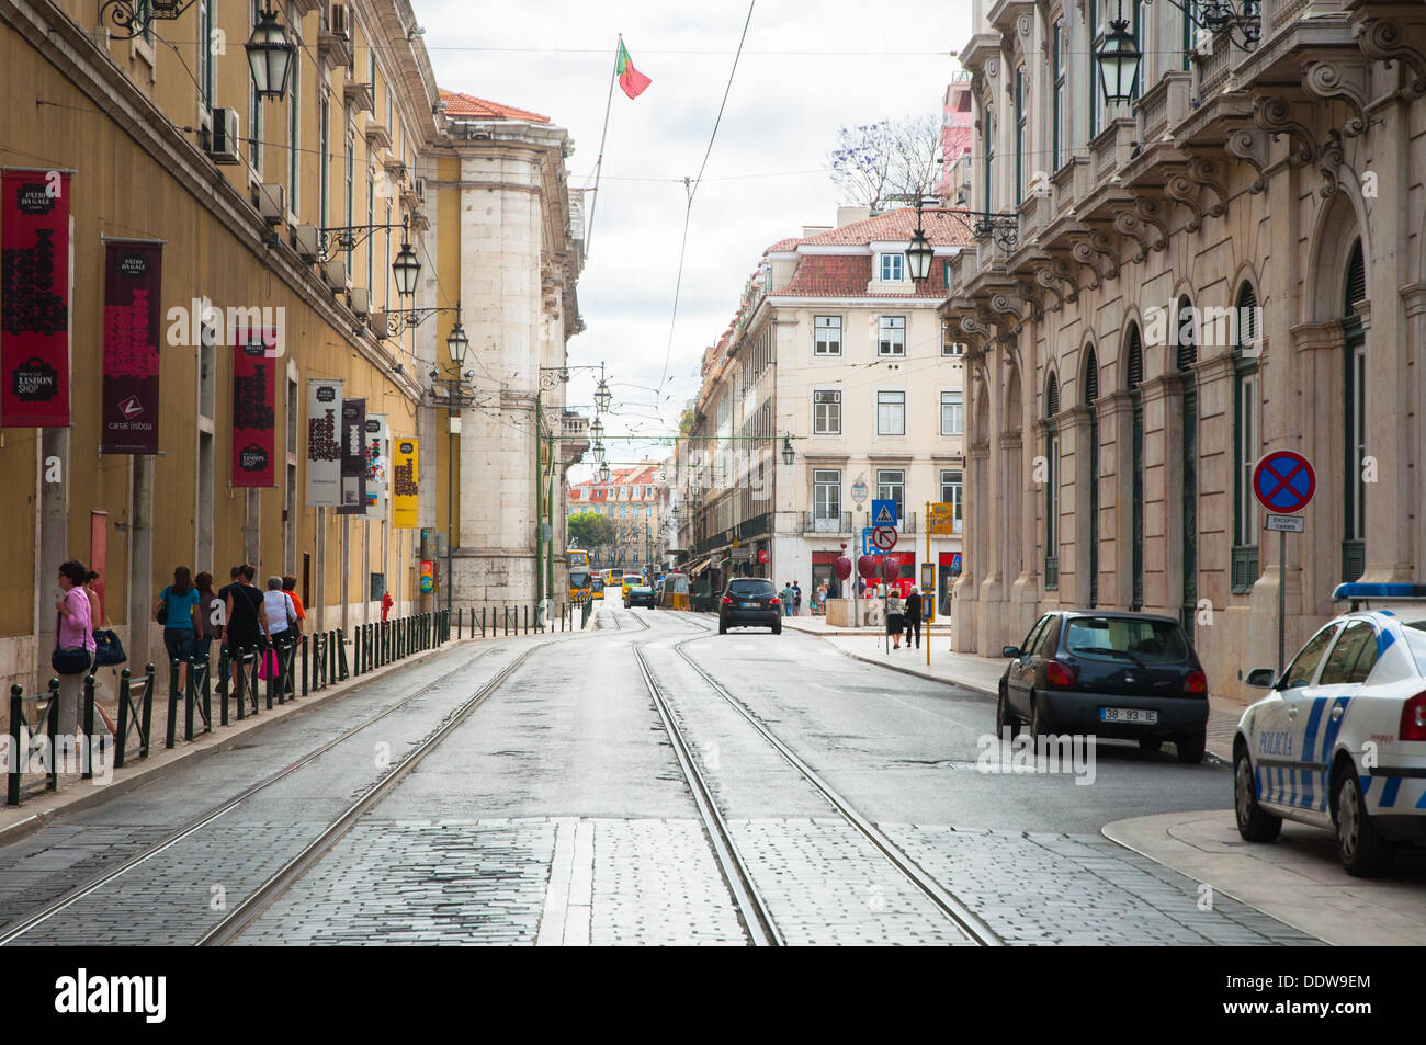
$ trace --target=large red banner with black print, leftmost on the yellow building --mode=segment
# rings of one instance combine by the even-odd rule
[[[0,426],[70,423],[70,175],[0,174]]]

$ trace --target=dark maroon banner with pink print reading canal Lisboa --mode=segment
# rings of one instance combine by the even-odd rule
[[[164,248],[104,245],[101,453],[158,453],[158,319]]]

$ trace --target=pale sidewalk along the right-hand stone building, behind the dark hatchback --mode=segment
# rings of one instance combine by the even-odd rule
[[[964,690],[995,697],[1000,693],[1000,677],[1005,673],[1001,657],[981,657],[974,653],[953,653],[950,636],[944,624],[923,624],[923,647],[886,652],[886,632],[878,627],[833,627],[826,617],[783,617],[783,627],[807,632],[826,639],[848,657],[904,671],[920,679],[958,686]],[[931,663],[925,663],[927,646]],[[1208,753],[1225,763],[1232,761],[1233,729],[1242,717],[1243,706],[1225,697],[1208,699]]]

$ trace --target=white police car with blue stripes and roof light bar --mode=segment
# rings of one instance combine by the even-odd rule
[[[1342,865],[1380,874],[1426,838],[1426,586],[1339,585],[1350,603],[1313,634],[1233,737],[1238,833],[1271,843],[1283,818],[1336,833]]]

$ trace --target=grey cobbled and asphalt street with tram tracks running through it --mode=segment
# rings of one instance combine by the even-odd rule
[[[0,931],[23,930],[16,944],[1318,942],[1205,901],[1098,834],[1222,807],[1224,767],[1101,746],[1089,787],[978,773],[994,730],[980,694],[794,632],[717,636],[694,614],[613,606],[595,623],[458,643],[39,828],[0,848]]]

